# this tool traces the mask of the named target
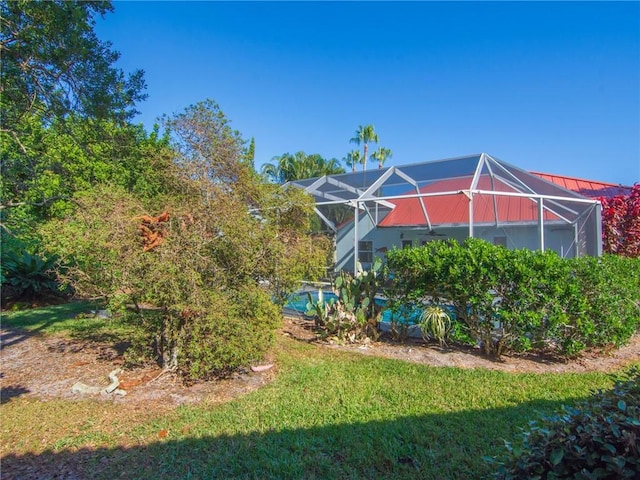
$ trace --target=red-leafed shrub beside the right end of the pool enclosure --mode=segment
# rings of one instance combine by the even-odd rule
[[[604,251],[640,257],[640,183],[636,183],[627,195],[600,201]]]

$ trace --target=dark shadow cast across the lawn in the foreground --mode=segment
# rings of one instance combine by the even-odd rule
[[[138,446],[7,454],[3,479],[479,479],[492,472],[485,455],[501,455],[503,439],[516,440],[519,427],[559,406],[537,400],[311,428],[266,424],[260,432],[233,435],[208,432],[242,429],[237,420],[221,427],[207,421],[206,410],[200,417],[189,411],[166,430],[136,435]]]

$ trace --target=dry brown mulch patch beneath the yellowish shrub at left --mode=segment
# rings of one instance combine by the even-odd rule
[[[72,391],[76,382],[97,387],[109,384],[109,373],[123,366],[124,344],[9,329],[0,330],[0,335],[2,403],[22,396],[42,400],[91,398],[157,412],[187,403],[227,401],[265,385],[275,375],[274,369],[247,370],[225,380],[185,385],[175,374],[147,366],[118,375],[119,388],[126,391],[124,396],[77,393]]]

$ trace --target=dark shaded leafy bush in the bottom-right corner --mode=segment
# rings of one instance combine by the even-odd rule
[[[533,421],[522,444],[506,442],[494,478],[640,478],[640,369],[577,405]]]

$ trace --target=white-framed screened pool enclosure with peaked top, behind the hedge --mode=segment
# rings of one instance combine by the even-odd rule
[[[600,203],[486,153],[297,180],[334,234],[336,270],[391,248],[478,237],[507,248],[601,254]]]

